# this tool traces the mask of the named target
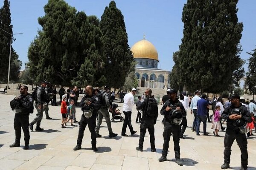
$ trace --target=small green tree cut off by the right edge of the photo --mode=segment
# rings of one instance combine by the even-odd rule
[[[252,93],[254,86],[256,85],[256,48],[250,54],[251,57],[248,59],[248,71],[246,73],[245,85],[247,89]]]

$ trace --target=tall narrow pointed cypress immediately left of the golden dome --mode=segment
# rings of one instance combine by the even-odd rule
[[[105,8],[99,27],[103,33],[103,58],[108,85],[121,88],[134,59],[128,45],[124,17],[114,1]]]

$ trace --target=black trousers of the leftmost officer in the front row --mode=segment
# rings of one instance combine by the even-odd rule
[[[29,116],[15,114],[13,126],[15,129],[15,142],[20,144],[21,127],[24,133],[25,145],[29,145]]]

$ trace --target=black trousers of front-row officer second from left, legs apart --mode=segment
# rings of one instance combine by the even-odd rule
[[[77,144],[81,145],[82,140],[84,137],[84,130],[86,125],[88,125],[90,133],[91,133],[91,139],[92,139],[92,146],[96,146],[96,116],[93,115],[90,117],[90,119],[86,119],[84,114],[81,116],[80,125],[79,125],[79,131],[78,131],[78,137],[77,137]]]

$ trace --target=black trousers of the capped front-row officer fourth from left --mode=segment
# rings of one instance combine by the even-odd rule
[[[174,125],[170,122],[164,122],[163,130],[163,156],[167,156],[170,136],[173,136],[175,159],[180,159],[180,125]]]

